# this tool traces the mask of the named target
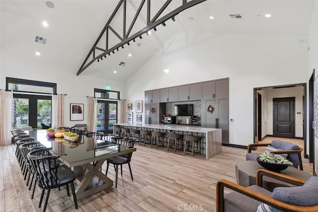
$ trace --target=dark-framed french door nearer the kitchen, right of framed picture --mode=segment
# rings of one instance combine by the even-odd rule
[[[113,133],[117,123],[117,101],[97,100],[97,131]]]

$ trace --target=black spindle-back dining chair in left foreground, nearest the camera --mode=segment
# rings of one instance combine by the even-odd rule
[[[67,194],[68,196],[70,196],[69,184],[71,184],[75,208],[78,209],[78,203],[74,188],[74,181],[76,179],[75,173],[71,169],[58,170],[56,164],[60,156],[45,156],[51,149],[52,148],[41,148],[31,151],[27,154],[27,157],[30,159],[32,168],[35,171],[38,186],[40,187],[40,189],[42,189],[39,208],[41,208],[45,190],[47,190],[47,194],[43,212],[45,212],[46,210],[51,189],[59,188],[65,185]]]

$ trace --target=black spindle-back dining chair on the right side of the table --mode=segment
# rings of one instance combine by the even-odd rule
[[[123,144],[123,145],[127,145],[129,146],[129,148],[133,148],[134,144],[135,144],[135,138],[132,137],[116,137],[113,138],[113,142],[119,143],[119,144]],[[131,161],[131,157],[133,155],[133,152],[127,153],[127,154],[123,154],[123,155],[118,155],[115,157],[110,157],[107,158],[107,168],[106,168],[106,173],[105,175],[107,175],[108,172],[108,167],[109,167],[109,163],[114,165],[115,171],[116,171],[116,188],[117,188],[117,179],[118,179],[118,165],[120,165],[120,172],[121,175],[123,175],[123,164],[128,164],[129,167],[129,171],[130,171],[130,176],[131,176],[131,180],[134,180],[133,178],[133,173],[131,171],[131,167],[130,167],[130,161]]]

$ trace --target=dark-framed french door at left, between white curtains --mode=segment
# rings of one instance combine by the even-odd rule
[[[41,128],[41,123],[51,127],[51,105],[51,96],[14,93],[12,128]]]

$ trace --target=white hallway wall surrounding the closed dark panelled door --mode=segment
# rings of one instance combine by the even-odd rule
[[[295,97],[295,137],[303,138],[303,95],[303,86],[267,90],[267,135],[273,135],[273,98]]]

